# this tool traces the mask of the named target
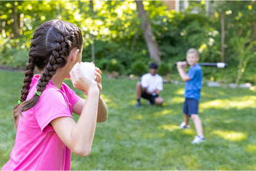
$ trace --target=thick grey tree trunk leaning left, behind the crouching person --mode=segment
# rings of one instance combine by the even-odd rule
[[[148,51],[150,52],[150,58],[159,64],[161,63],[161,50],[158,47],[158,42],[156,42],[156,37],[152,33],[150,21],[146,16],[142,1],[135,2],[137,4],[138,17],[140,17],[140,25],[142,25],[146,46],[148,46]]]

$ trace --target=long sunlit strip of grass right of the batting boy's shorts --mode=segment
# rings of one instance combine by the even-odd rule
[[[217,108],[217,109],[244,109],[244,108],[256,108],[256,96],[246,95],[237,99],[216,99],[212,101],[207,101],[205,103],[201,103],[199,108],[201,109],[209,109],[209,108]]]

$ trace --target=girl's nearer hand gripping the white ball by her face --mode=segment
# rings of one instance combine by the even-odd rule
[[[86,94],[89,91],[89,89],[97,88],[98,86],[97,82],[87,76],[84,76],[84,74],[82,74],[81,65],[79,65],[79,63],[76,63],[76,65],[78,66],[74,67],[70,71],[70,79],[72,81],[74,88],[79,89]],[[97,79],[97,76],[96,76],[96,79]],[[100,81],[101,81],[101,77],[100,77]]]

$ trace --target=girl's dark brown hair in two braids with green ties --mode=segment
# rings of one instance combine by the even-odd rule
[[[36,29],[31,39],[20,104],[17,104],[13,111],[15,127],[18,116],[22,116],[23,111],[33,108],[39,100],[36,93],[32,98],[26,99],[35,66],[43,71],[36,86],[36,92],[42,93],[57,69],[66,65],[66,59],[74,48],[80,51],[82,49],[82,34],[77,26],[62,20],[50,20]]]

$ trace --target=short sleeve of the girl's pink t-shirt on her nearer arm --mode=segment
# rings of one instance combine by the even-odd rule
[[[74,100],[71,102],[74,102]],[[72,108],[72,104],[69,103],[60,90],[44,90],[38,103],[34,106],[34,113],[41,131],[48,132],[53,130],[49,124],[57,117],[72,117],[70,108]]]

